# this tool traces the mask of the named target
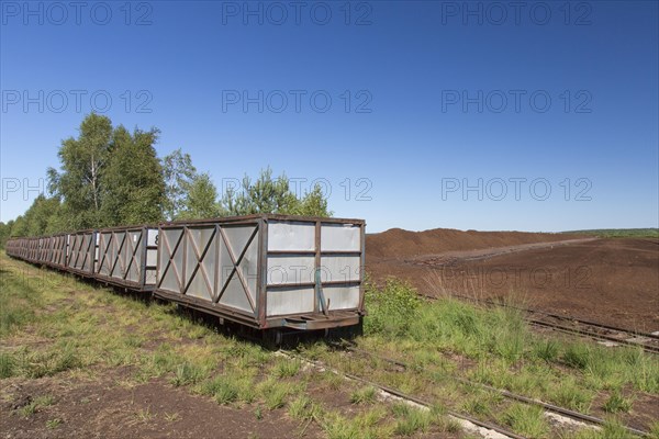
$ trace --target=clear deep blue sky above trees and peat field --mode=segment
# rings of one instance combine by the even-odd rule
[[[220,190],[319,181],[369,232],[658,226],[655,1],[25,4],[1,2],[1,221],[96,110]]]

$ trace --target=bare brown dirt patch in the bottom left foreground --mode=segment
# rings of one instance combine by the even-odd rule
[[[301,431],[283,408],[264,409],[257,419],[254,410],[219,405],[165,380],[127,384],[116,369],[100,376],[4,381],[0,392],[2,438],[323,437],[313,423]],[[55,395],[52,405],[37,406],[30,416],[21,413],[43,395]]]

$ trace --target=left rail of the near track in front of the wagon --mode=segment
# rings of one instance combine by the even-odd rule
[[[390,387],[388,385],[380,384],[380,383],[377,383],[375,381],[370,381],[368,379],[365,379],[365,378],[361,378],[361,376],[358,376],[358,375],[354,375],[351,373],[338,371],[338,370],[336,370],[334,368],[328,367],[327,364],[325,364],[325,363],[323,363],[321,361],[311,360],[309,358],[305,358],[304,356],[301,356],[298,352],[293,352],[293,351],[284,350],[284,349],[280,349],[279,351],[282,352],[283,354],[290,357],[290,358],[298,358],[298,359],[300,359],[300,360],[302,360],[304,362],[313,364],[316,368],[322,368],[324,370],[328,370],[328,371],[332,371],[332,372],[334,372],[336,374],[343,375],[343,376],[345,376],[348,380],[353,380],[353,381],[357,381],[357,382],[360,382],[360,383],[366,384],[366,385],[370,385],[370,386],[372,386],[375,389],[380,390],[381,392],[384,392],[386,394],[393,395],[396,398],[400,398],[400,399],[403,399],[403,401],[406,401],[406,402],[420,405],[422,407],[425,407],[426,409],[429,409],[433,406],[433,404],[431,402],[422,399],[422,398],[420,398],[417,396],[409,395],[406,393],[403,393],[403,392],[399,391],[398,389],[393,389],[393,387]],[[498,425],[490,424],[490,423],[487,423],[487,421],[473,418],[473,417],[471,417],[469,415],[466,415],[463,413],[454,412],[454,410],[446,410],[446,414],[448,416],[455,418],[455,419],[462,420],[465,423],[469,423],[469,424],[471,424],[471,425],[473,425],[476,427],[483,428],[485,430],[494,431],[494,432],[496,432],[499,435],[502,435],[505,438],[511,438],[511,439],[527,439],[526,437],[520,436],[520,435],[517,435],[514,431],[510,431],[510,430],[507,430],[507,429],[505,429],[503,427],[500,427]]]

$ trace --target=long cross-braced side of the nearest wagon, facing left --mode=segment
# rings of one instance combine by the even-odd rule
[[[244,217],[161,224],[155,295],[259,327],[261,223]]]

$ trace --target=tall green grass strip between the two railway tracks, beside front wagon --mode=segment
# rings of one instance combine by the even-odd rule
[[[365,331],[370,346],[389,339],[393,349],[405,351],[405,356],[411,350],[428,356],[431,345],[437,351],[454,351],[485,364],[491,379],[483,381],[502,387],[545,385],[520,381],[528,381],[530,375],[549,376],[567,365],[572,370],[570,376],[578,381],[585,378],[579,384],[591,390],[630,384],[641,392],[659,393],[659,363],[639,348],[610,349],[584,340],[547,339],[533,334],[516,309],[479,307],[450,297],[421,301],[414,289],[396,280],[382,289],[369,285],[366,299],[370,314]],[[526,369],[529,372],[524,376]]]

